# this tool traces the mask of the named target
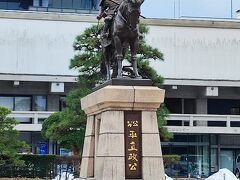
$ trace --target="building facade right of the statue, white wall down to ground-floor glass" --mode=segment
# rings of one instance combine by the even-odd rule
[[[165,77],[167,127],[163,154],[178,154],[172,176],[207,177],[220,168],[235,172],[239,155],[238,20],[156,20],[149,43],[165,61],[153,66]],[[157,35],[156,35],[157,34]]]

